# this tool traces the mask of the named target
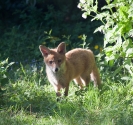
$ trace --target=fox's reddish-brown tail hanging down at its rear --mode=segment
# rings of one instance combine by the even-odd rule
[[[90,76],[91,76],[91,80],[94,81],[94,86],[98,86],[98,88],[100,88],[101,79],[100,79],[100,74],[96,65],[94,66]]]

